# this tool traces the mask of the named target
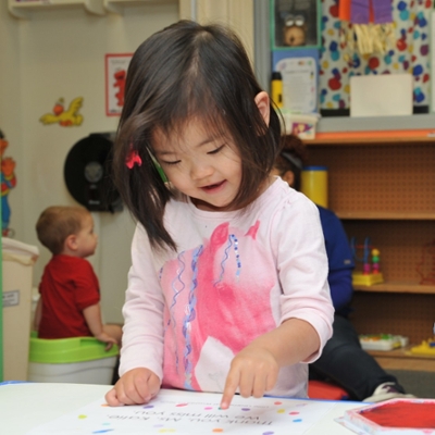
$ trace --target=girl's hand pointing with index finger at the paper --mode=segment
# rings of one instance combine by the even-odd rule
[[[237,388],[243,397],[263,397],[275,386],[278,371],[279,365],[272,352],[253,344],[247,346],[231,363],[221,408],[229,408]]]

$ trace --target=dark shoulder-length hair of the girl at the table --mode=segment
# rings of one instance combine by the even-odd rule
[[[114,179],[126,207],[153,248],[175,243],[163,225],[173,196],[150,152],[156,129],[170,136],[198,117],[208,130],[229,136],[241,156],[243,176],[231,203],[252,202],[279,150],[281,123],[270,107],[264,122],[254,97],[261,91],[237,36],[220,25],[179,21],[142,42],[130,61],[114,148]],[[141,165],[126,160],[137,152]]]

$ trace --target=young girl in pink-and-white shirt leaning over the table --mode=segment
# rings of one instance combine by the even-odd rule
[[[223,409],[236,391],[307,397],[333,308],[319,212],[270,176],[279,139],[227,29],[182,21],[135,52],[114,166],[138,225],[109,405],[161,385],[223,391]]]

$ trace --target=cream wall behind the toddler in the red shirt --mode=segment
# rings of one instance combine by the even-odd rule
[[[35,223],[52,204],[75,204],[63,181],[71,147],[89,133],[113,132],[117,117],[105,116],[104,54],[133,52],[152,33],[178,20],[178,5],[144,4],[124,15],[90,15],[82,9],[38,11],[32,20],[9,14],[0,2],[0,128],[16,161],[17,186],[10,194],[10,226],[17,240],[36,245],[37,285],[50,253],[37,240]],[[83,97],[80,126],[42,125],[59,98]],[[100,278],[107,322],[122,322],[129,244],[134,223],[128,212],[94,213],[99,235],[89,260]]]

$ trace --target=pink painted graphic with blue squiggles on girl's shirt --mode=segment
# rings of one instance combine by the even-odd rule
[[[163,384],[201,390],[195,368],[209,337],[233,355],[274,327],[270,293],[276,271],[248,232],[221,224],[210,240],[166,262]]]

